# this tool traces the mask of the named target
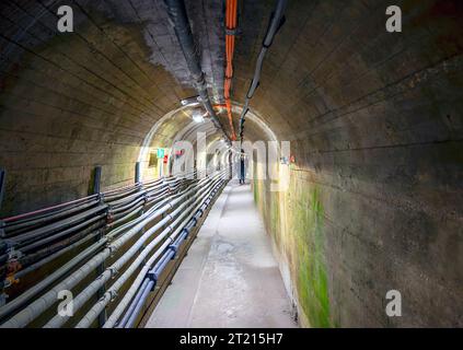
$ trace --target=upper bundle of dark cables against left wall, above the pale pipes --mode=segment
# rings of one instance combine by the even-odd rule
[[[169,184],[167,179],[165,183]],[[94,195],[49,209],[4,219],[2,241],[7,243],[8,252],[0,256],[0,261],[3,262],[0,271],[4,279],[4,287],[16,282],[19,275],[24,277],[25,270],[34,271],[34,265],[36,268],[40,267],[43,264],[39,260],[50,259],[51,255],[57,258],[69,250],[67,248],[70,245],[79,242],[82,244],[84,242],[82,240],[88,235],[96,235],[105,228],[107,219],[120,218],[120,215],[113,215],[113,212],[116,212],[121,203],[125,203],[124,214],[126,215],[139,212],[141,206],[150,206],[155,201],[152,195],[158,194],[160,189],[159,182],[153,182],[147,183],[143,188],[137,185],[117,190],[118,198],[127,191],[136,191],[137,197],[144,196],[141,205],[135,201],[135,198],[116,202],[114,201],[116,191],[111,191],[107,198],[106,192],[103,192],[100,196]],[[109,223],[109,226],[115,226],[123,221],[123,219],[115,220]],[[20,272],[15,273],[19,269]]]

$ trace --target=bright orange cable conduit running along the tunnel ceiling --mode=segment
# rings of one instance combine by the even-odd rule
[[[233,78],[233,54],[234,54],[234,37],[236,34],[236,11],[238,1],[227,0],[225,9],[225,79],[223,84],[223,97],[225,100],[227,114],[230,122],[231,138],[236,140],[236,133],[233,128],[233,116],[230,100],[231,81]]]

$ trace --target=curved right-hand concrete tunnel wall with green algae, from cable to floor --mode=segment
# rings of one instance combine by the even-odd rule
[[[397,1],[400,34],[387,4],[290,4],[253,102],[291,141],[289,190],[253,186],[310,326],[463,325],[462,4]]]

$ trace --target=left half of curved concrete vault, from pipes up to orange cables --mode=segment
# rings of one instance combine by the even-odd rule
[[[62,3],[2,2],[4,213],[86,194],[95,165],[105,170],[105,187],[131,182],[147,137],[150,147],[170,147],[190,119],[175,114],[155,127],[181,100],[196,95],[162,1],[76,1],[76,31],[65,34],[56,28]],[[187,1],[187,8],[210,94],[220,104],[222,9],[217,1]],[[247,25],[264,28],[268,14]],[[244,26],[242,31],[247,36]],[[245,49],[255,44],[247,42]],[[224,109],[220,118],[225,120]],[[157,132],[149,137],[153,128]]]

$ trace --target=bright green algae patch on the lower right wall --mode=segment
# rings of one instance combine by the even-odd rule
[[[297,255],[299,303],[312,327],[331,327],[324,257],[324,210],[319,189],[299,189],[291,228]]]

